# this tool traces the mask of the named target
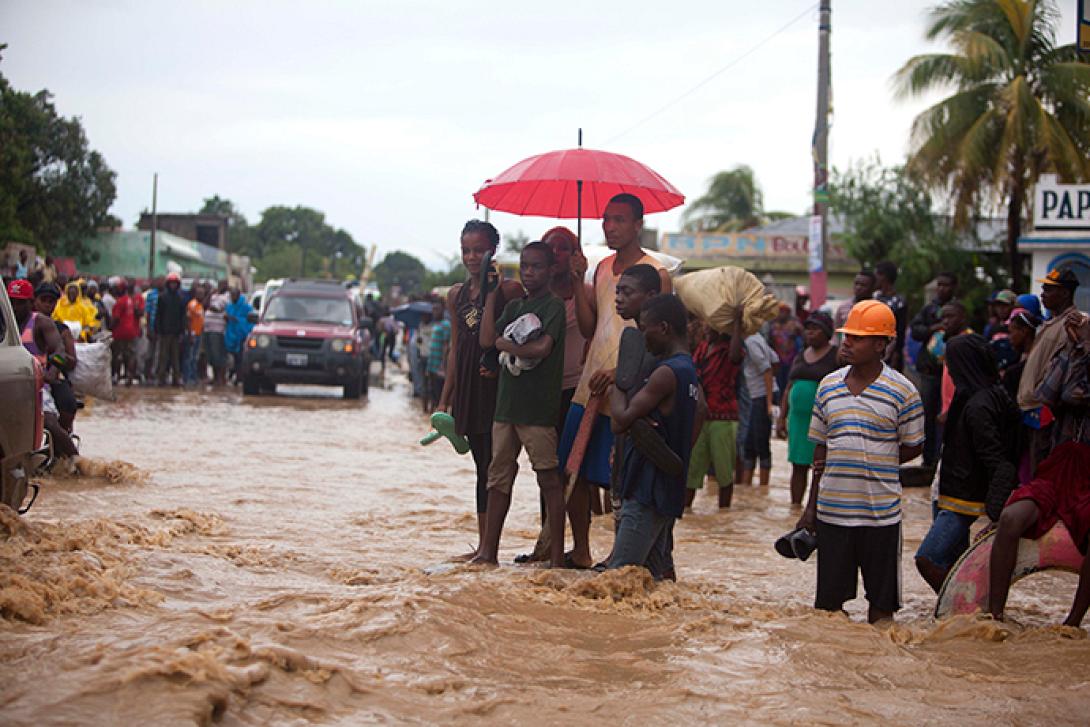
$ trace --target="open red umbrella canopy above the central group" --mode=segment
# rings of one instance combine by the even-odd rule
[[[601,217],[609,198],[621,192],[639,197],[645,213],[685,203],[685,195],[646,165],[582,147],[523,159],[486,181],[473,199],[514,215],[576,219]]]

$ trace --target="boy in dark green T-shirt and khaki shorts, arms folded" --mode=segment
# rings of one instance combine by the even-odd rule
[[[537,360],[532,368],[513,375],[500,367],[496,393],[496,413],[492,427],[492,464],[488,467],[488,509],[481,550],[475,564],[499,565],[499,535],[511,506],[511,487],[519,471],[518,458],[523,447],[537,473],[537,485],[545,497],[549,523],[549,561],[564,567],[564,488],[557,459],[556,421],[560,413],[560,388],[564,378],[564,302],[549,291],[553,275],[553,250],[532,242],[519,258],[519,277],[525,298],[513,300],[495,320],[495,305],[488,293],[481,320],[481,346],[520,359]],[[520,317],[533,314],[541,320],[541,335],[523,344],[497,334]]]

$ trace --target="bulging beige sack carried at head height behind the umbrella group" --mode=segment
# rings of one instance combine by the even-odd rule
[[[765,292],[756,276],[731,265],[683,275],[674,281],[674,289],[690,313],[720,334],[732,330],[732,311],[739,305],[746,336],[758,332],[779,308],[779,301]]]

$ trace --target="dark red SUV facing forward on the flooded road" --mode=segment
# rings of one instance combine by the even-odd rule
[[[288,280],[246,338],[239,375],[245,395],[322,384],[359,399],[370,372],[371,334],[351,291],[334,281]]]

